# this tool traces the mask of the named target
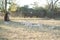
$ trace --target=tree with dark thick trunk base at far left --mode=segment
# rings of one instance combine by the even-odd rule
[[[5,13],[4,15],[4,21],[9,21],[9,12],[7,11],[7,4],[11,4],[12,3],[12,0],[0,0],[0,9],[1,11],[3,11]]]

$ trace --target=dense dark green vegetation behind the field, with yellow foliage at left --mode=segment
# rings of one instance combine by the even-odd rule
[[[24,5],[22,7],[18,6],[16,3],[14,3],[12,0],[7,0],[6,4],[9,4],[9,8],[7,9],[11,16],[13,17],[37,17],[37,18],[59,18],[60,17],[60,2],[59,0],[46,0],[47,5],[45,8],[39,7],[37,2],[34,2],[33,7],[29,8],[29,5]],[[57,4],[58,3],[58,4]],[[5,4],[5,5],[6,5]],[[6,5],[7,7],[7,5]],[[6,8],[5,7],[5,8]],[[0,2],[0,11],[4,12],[4,2]],[[0,13],[4,15],[3,13]]]

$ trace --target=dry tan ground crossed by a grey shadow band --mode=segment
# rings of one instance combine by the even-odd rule
[[[0,20],[0,40],[60,40],[59,20],[20,19],[11,19],[12,21],[8,23]],[[42,28],[38,26],[28,27],[21,24],[21,22],[45,25]]]

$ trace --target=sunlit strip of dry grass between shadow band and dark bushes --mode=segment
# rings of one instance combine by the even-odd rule
[[[46,25],[59,25],[60,26],[60,20],[54,20],[54,19],[44,19],[44,18],[10,18],[13,21],[16,22],[31,22],[31,23],[39,23],[39,24],[46,24]]]

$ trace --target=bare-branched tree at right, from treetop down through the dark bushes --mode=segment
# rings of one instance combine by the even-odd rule
[[[55,14],[55,10],[56,10],[56,3],[58,2],[59,0],[47,0],[47,3],[48,3],[48,11],[47,14],[49,17],[54,17],[54,14]]]

